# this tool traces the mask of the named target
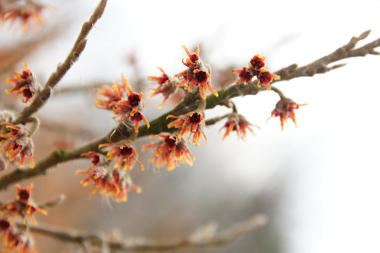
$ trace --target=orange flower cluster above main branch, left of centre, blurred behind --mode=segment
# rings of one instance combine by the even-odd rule
[[[142,92],[134,92],[128,84],[128,79],[121,75],[122,83],[112,86],[103,85],[97,91],[104,98],[96,98],[95,106],[99,109],[112,110],[114,118],[120,117],[118,122],[131,121],[135,124],[135,132],[139,131],[139,122],[143,121],[149,128],[149,122],[142,114]]]

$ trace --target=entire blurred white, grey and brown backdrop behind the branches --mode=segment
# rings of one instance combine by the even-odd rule
[[[40,84],[63,61],[80,27],[95,8],[95,0],[39,1],[45,24],[38,32],[22,33],[19,23],[0,24],[0,80],[20,71],[21,61]],[[38,113],[42,126],[34,136],[35,160],[55,148],[72,148],[104,135],[116,122],[108,111],[94,107],[96,86],[120,81],[125,73],[144,92],[150,121],[172,108],[162,97],[150,98],[146,76],[158,76],[158,66],[173,76],[185,69],[182,45],[200,45],[200,56],[213,68],[215,89],[234,83],[233,68],[245,66],[259,53],[276,71],[292,63],[304,65],[373,29],[359,46],[380,35],[379,0],[362,1],[127,1],[109,0],[104,15],[88,36],[80,60],[57,86]],[[275,92],[233,99],[239,113],[261,127],[245,141],[234,133],[222,141],[224,122],[206,129],[209,144],[190,150],[193,167],[157,170],[147,164],[149,151],[139,152],[144,171],[132,170],[143,189],[116,204],[91,187],[79,184],[86,160],[58,165],[47,175],[22,182],[35,184],[40,202],[59,194],[66,201],[49,210],[41,223],[84,231],[112,231],[124,236],[153,238],[188,235],[208,221],[220,227],[264,212],[269,223],[225,248],[193,252],[356,253],[379,252],[379,67],[380,57],[343,60],[347,66],[312,78],[275,84],[295,102],[298,128],[278,118],[267,122],[279,100]],[[9,88],[1,81],[2,89]],[[92,87],[92,88],[86,88]],[[180,97],[180,96],[178,96]],[[0,108],[20,111],[24,104],[0,92]],[[217,106],[211,118],[229,112]],[[151,139],[136,142],[137,150]],[[6,171],[6,172],[9,172]],[[11,200],[16,191],[0,192]],[[37,236],[41,253],[74,249]]]

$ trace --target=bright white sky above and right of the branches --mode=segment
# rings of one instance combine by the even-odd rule
[[[78,6],[73,14],[82,17],[75,22],[80,24],[95,1],[70,4]],[[218,66],[239,68],[256,53],[267,56],[273,71],[292,63],[307,64],[368,29],[373,32],[365,42],[378,38],[379,9],[379,0],[109,0],[85,52],[63,82],[78,82],[79,77],[86,85],[118,78],[119,73],[128,73],[125,54],[131,51],[139,54],[144,75],[158,74],[157,66],[178,73],[185,57],[181,46],[198,42],[204,44],[201,54],[210,50],[209,57]],[[30,66],[43,61],[45,67],[39,71],[50,73],[71,47],[78,26],[68,27],[71,40],[49,43],[54,50],[30,59]],[[1,33],[4,43],[10,35]],[[277,85],[296,102],[309,103],[299,109],[297,129],[289,124],[281,131],[278,119],[265,123],[278,100],[274,93],[234,100],[240,113],[263,130],[243,143],[223,143],[238,147],[225,152],[241,165],[252,164],[252,153],[257,155],[253,169],[228,170],[236,166],[232,160],[224,172],[247,188],[252,177],[266,182],[277,173],[286,175],[284,233],[289,253],[380,251],[380,56],[343,62],[348,65],[331,73]],[[208,114],[219,113],[216,109]],[[282,163],[288,168],[270,169]]]

